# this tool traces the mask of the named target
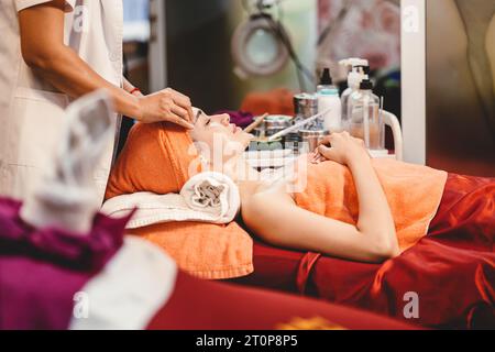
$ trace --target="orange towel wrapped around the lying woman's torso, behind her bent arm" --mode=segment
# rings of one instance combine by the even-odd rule
[[[427,234],[448,174],[393,160],[373,160],[372,163],[394,217],[400,250],[405,251]],[[358,223],[358,193],[348,167],[334,162],[309,164],[307,177],[306,189],[295,194],[299,207],[346,223]]]

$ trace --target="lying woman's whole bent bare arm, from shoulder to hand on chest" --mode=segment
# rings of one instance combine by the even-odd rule
[[[397,255],[394,220],[364,147],[349,134],[334,134],[331,141],[333,147],[321,152],[345,163],[353,174],[360,202],[355,227],[301,209],[283,191],[258,193],[244,201],[244,222],[275,245],[363,262],[383,262]]]

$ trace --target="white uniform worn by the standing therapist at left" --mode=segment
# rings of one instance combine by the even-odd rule
[[[18,11],[48,1],[0,0],[0,196],[20,200],[50,165],[70,102],[34,75],[21,55]],[[121,86],[122,0],[66,0],[66,12],[65,44],[101,77]],[[113,144],[95,172],[101,199]]]

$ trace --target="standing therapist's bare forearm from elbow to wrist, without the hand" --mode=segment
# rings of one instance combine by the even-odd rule
[[[68,46],[52,48],[50,57],[29,64],[43,79],[73,98],[105,88],[119,113],[140,117],[136,97],[103,79]]]

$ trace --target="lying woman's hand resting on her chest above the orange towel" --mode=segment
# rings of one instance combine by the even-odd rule
[[[328,160],[349,165],[351,161],[363,156],[370,157],[364,141],[351,136],[348,132],[342,132],[326,136],[310,160],[315,164]]]

